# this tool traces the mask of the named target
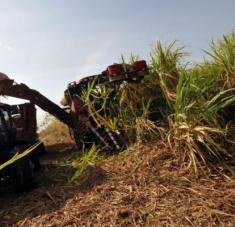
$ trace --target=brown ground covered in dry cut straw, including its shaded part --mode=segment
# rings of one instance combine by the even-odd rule
[[[39,185],[0,197],[0,226],[235,226],[235,180],[195,179],[163,143],[90,166],[77,182],[74,145],[48,145]]]

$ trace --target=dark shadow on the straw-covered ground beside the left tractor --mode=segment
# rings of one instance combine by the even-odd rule
[[[38,184],[35,189],[20,195],[9,191],[0,195],[0,226],[52,213],[74,196],[86,194],[106,181],[102,168],[89,167],[79,182],[70,182],[75,170],[65,163],[78,155],[74,147],[55,144],[47,150],[48,154],[42,158],[43,170],[35,176]]]

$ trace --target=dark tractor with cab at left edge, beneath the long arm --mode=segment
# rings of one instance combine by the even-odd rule
[[[35,143],[38,143],[35,106],[31,103],[0,103],[0,167]],[[16,192],[31,188],[34,172],[40,169],[39,157],[43,153],[45,148],[41,143],[26,156],[0,168],[0,189],[2,183],[10,183]]]

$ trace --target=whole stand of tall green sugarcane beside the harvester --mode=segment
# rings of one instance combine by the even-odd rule
[[[188,67],[184,48],[157,42],[141,83],[115,91],[91,84],[84,91],[90,116],[124,133],[129,144],[164,140],[194,174],[225,166],[234,157],[235,34],[213,41],[206,54],[204,62]]]

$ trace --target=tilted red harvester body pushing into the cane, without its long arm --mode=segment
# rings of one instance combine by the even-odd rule
[[[123,82],[140,82],[148,72],[146,61],[135,61],[133,64],[113,64],[107,67],[101,74],[85,77],[68,85],[61,100],[63,106],[67,106],[73,117],[75,141],[79,148],[92,143],[101,144],[109,151],[118,151],[125,147],[119,132],[113,132],[108,125],[98,125],[90,117],[90,110],[83,101],[83,93],[90,87],[109,87],[116,93]],[[109,97],[111,98],[111,97]],[[101,113],[100,113],[101,114]],[[79,125],[79,124],[80,125]]]

